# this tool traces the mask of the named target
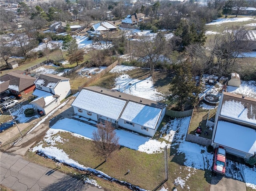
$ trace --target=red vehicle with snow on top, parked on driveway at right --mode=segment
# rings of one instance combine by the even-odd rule
[[[224,148],[216,148],[214,154],[213,171],[225,175],[226,171],[226,150]]]

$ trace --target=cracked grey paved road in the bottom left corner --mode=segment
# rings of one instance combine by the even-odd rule
[[[100,191],[84,181],[0,152],[0,183],[14,191]]]

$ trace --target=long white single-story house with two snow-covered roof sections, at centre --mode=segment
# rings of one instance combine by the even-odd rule
[[[79,116],[150,137],[166,111],[166,104],[97,86],[82,89],[71,105]]]

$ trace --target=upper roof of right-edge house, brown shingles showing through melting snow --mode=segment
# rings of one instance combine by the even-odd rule
[[[256,99],[224,92],[220,115],[256,125]]]

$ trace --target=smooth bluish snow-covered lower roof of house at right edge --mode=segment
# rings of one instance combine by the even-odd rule
[[[256,131],[238,124],[218,121],[214,143],[254,155]]]

